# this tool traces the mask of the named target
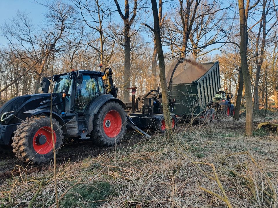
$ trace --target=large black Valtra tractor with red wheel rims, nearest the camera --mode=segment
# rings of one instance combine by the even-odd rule
[[[41,163],[53,157],[53,138],[59,150],[63,138],[94,140],[111,146],[126,131],[125,104],[117,88],[105,84],[107,73],[78,70],[43,78],[39,94],[18,96],[0,109],[0,145],[12,145],[21,161]],[[53,90],[49,92],[52,79]],[[52,106],[51,106],[52,103]],[[52,108],[52,109],[51,109]]]

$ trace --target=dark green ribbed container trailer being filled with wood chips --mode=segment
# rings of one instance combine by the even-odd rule
[[[221,87],[218,61],[198,64],[177,60],[168,71],[166,81],[169,96],[175,99],[173,113],[178,118],[203,120],[208,111],[210,115],[215,111],[207,106]]]

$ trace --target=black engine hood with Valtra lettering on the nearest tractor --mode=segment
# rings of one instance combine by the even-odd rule
[[[2,124],[10,124],[10,121],[17,121],[18,118],[25,120],[26,115],[23,115],[24,112],[32,109],[50,109],[50,98],[51,93],[41,93],[41,94],[32,94],[32,95],[23,95],[15,97],[8,102],[6,102],[0,108],[0,121]],[[61,93],[52,93],[52,106],[53,111],[57,111],[58,108],[55,108],[58,104],[62,103]],[[62,111],[62,109],[60,109]],[[16,118],[16,117],[18,118]],[[19,120],[20,120],[19,119]],[[12,122],[13,123],[13,122]]]

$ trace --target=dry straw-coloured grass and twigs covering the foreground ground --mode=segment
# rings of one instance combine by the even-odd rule
[[[277,207],[278,137],[244,137],[243,122],[181,126],[58,174],[60,207]],[[28,168],[1,187],[1,207],[55,207],[52,170]],[[32,202],[32,203],[30,203]],[[54,206],[52,206],[54,205]]]

